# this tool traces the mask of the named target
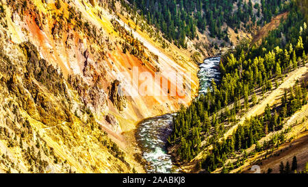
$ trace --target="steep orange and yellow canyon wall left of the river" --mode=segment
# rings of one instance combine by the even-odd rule
[[[191,53],[164,50],[120,9],[110,1],[0,0],[1,171],[132,172],[123,132],[190,103],[198,88]],[[168,79],[149,95],[169,93],[177,84],[169,73],[190,73],[191,95],[136,95],[146,80],[129,80],[142,73]]]

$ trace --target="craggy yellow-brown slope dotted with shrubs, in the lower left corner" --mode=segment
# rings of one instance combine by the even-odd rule
[[[77,90],[31,42],[6,50],[0,49],[0,173],[131,172],[125,153],[74,97]],[[99,103],[97,92],[89,89],[88,100]],[[114,116],[106,120],[118,124]]]

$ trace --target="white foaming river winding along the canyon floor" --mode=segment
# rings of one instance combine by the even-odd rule
[[[216,82],[220,77],[218,65],[220,57],[208,58],[201,64],[198,72],[199,94],[209,88],[211,79]],[[145,119],[138,124],[136,138],[146,160],[147,173],[179,173],[180,169],[172,164],[171,155],[166,151],[166,140],[172,133],[172,118],[176,114],[164,114]]]

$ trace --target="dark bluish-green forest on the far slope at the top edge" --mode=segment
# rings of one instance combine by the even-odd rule
[[[271,20],[285,8],[283,0],[129,0],[133,11],[140,10],[150,25],[162,31],[164,37],[176,45],[186,47],[185,37],[196,38],[197,29],[209,29],[212,38],[229,42],[227,25],[237,32],[238,29],[250,31],[253,25],[262,25]]]

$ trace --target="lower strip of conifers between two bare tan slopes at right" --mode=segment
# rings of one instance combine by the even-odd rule
[[[274,136],[270,143],[264,142],[263,145],[260,145],[258,140],[270,132],[277,132],[282,129],[283,120],[288,116],[292,116],[302,105],[307,104],[307,88],[307,84],[303,82],[300,85],[296,84],[289,91],[285,90],[283,101],[279,107],[270,108],[267,105],[264,114],[246,120],[244,125],[240,125],[236,132],[227,140],[223,140],[222,143],[214,143],[213,151],[202,163],[203,168],[209,172],[214,171],[218,167],[224,166],[227,158],[235,155],[236,151],[248,149],[253,144],[256,144],[255,153],[257,153],[270,147],[277,147],[285,142],[285,132]],[[241,159],[238,160],[237,166],[244,164]],[[224,166],[223,172],[231,169],[234,169],[234,166]]]

